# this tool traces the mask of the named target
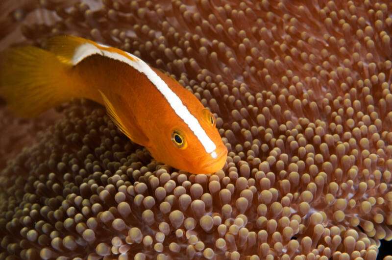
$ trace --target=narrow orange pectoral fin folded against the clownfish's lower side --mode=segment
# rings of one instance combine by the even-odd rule
[[[132,116],[124,116],[121,115],[120,113],[117,112],[117,110],[114,108],[112,102],[110,102],[109,98],[106,97],[105,94],[102,93],[102,91],[98,90],[99,93],[102,96],[103,102],[106,107],[107,114],[109,117],[113,120],[113,122],[117,125],[117,127],[121,130],[121,132],[124,133],[129,139],[131,139],[133,142],[142,144],[144,146],[148,146],[149,139],[145,134],[142,132],[142,128],[140,127],[139,123],[136,120],[132,120]],[[121,98],[115,98],[116,100],[113,100],[113,103],[120,105],[123,101]],[[127,120],[127,126],[125,127],[125,121]],[[132,128],[130,128],[131,126]]]

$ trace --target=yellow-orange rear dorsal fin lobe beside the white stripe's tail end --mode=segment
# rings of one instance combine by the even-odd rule
[[[76,48],[86,43],[98,46],[93,41],[77,36],[59,35],[46,40],[44,48],[54,53],[62,63],[73,65],[73,55],[75,54]]]

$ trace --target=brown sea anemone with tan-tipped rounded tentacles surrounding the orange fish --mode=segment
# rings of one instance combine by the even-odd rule
[[[0,24],[25,38],[4,39],[140,56],[229,153],[215,174],[173,169],[75,101],[1,172],[0,259],[371,260],[392,239],[391,1],[10,2]]]

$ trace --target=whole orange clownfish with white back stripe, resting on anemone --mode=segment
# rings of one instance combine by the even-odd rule
[[[117,127],[155,160],[190,173],[214,173],[227,148],[214,115],[175,79],[121,49],[75,36],[49,38],[45,49],[10,48],[0,65],[0,95],[33,117],[73,98],[106,107]]]

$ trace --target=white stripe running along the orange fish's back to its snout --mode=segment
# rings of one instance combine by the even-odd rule
[[[174,110],[175,114],[179,116],[192,130],[195,134],[196,138],[201,142],[205,151],[207,153],[211,153],[215,151],[217,146],[214,142],[208,137],[204,129],[201,127],[200,123],[197,119],[189,112],[188,108],[182,103],[181,99],[176,95],[166,84],[165,81],[161,79],[153,71],[147,63],[140,60],[136,56],[126,52],[131,58],[135,59],[135,61],[125,57],[124,55],[112,52],[105,49],[100,49],[93,44],[85,43],[80,45],[75,49],[75,53],[73,54],[72,62],[73,65],[78,64],[83,59],[91,56],[93,54],[102,55],[104,57],[112,58],[118,61],[125,62],[126,64],[130,65],[132,68],[136,69],[137,71],[144,73],[149,81],[159,90],[159,92],[166,98],[172,109]]]

